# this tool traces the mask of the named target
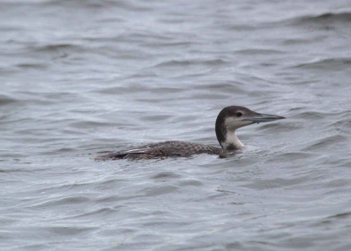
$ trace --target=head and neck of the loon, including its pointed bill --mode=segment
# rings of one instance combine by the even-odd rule
[[[224,150],[235,150],[244,147],[235,134],[236,129],[260,122],[281,120],[285,117],[260,114],[241,106],[223,108],[216,120],[216,136]]]

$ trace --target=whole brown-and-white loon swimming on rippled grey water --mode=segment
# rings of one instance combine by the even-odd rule
[[[189,157],[193,154],[225,154],[244,147],[235,134],[236,129],[250,124],[281,120],[285,117],[260,114],[241,106],[223,108],[216,120],[216,136],[222,148],[206,146],[204,144],[186,141],[164,141],[132,148],[107,155],[97,156],[95,159],[151,159],[156,157]]]

